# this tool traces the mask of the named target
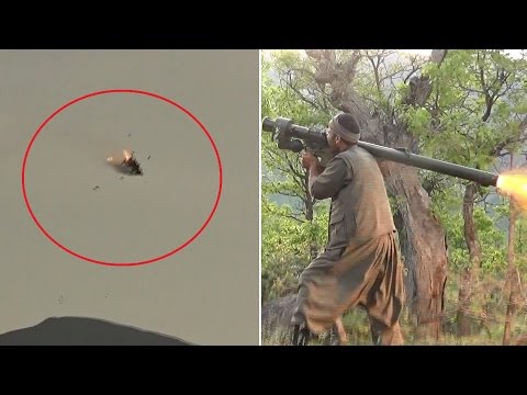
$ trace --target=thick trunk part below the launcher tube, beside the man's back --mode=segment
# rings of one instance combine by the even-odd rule
[[[440,335],[447,280],[445,233],[430,213],[430,200],[415,169],[381,162],[388,192],[397,196],[396,226],[408,275],[406,301],[417,318],[417,338]]]

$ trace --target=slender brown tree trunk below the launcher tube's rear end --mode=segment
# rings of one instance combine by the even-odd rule
[[[468,184],[463,198],[464,241],[469,249],[469,267],[462,270],[460,275],[457,317],[459,336],[471,335],[469,313],[481,262],[481,246],[474,225],[475,188],[474,183]]]

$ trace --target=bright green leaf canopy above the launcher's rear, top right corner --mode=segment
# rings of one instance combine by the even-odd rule
[[[427,144],[445,160],[489,168],[500,154],[496,146],[518,138],[527,104],[519,83],[527,74],[525,61],[500,50],[450,50],[440,68],[429,65],[424,72],[434,87],[425,108],[436,110],[440,125]],[[423,134],[418,127],[415,133]]]

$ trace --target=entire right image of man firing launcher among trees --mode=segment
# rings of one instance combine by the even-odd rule
[[[261,52],[261,345],[527,343],[522,49]]]

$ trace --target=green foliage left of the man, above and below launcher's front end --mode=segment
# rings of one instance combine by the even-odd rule
[[[327,124],[332,114],[323,98],[313,95],[310,66],[299,53],[282,50],[262,59],[262,116],[284,116],[304,125]],[[299,99],[302,94],[303,100]],[[306,191],[300,155],[277,148],[269,133],[261,137],[261,272],[262,300],[291,292],[298,275],[327,239],[328,205]],[[307,215],[312,207],[313,218]]]

